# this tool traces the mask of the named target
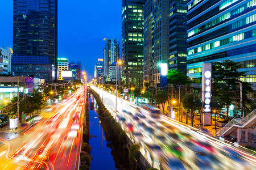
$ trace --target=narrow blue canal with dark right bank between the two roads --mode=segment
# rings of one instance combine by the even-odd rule
[[[93,110],[90,110],[91,103],[94,105]],[[92,147],[90,169],[129,169],[127,151],[115,145],[102,129],[98,105],[93,96],[89,97],[89,134],[92,135],[89,139]]]

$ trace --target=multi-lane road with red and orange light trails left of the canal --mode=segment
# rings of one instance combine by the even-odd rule
[[[78,169],[84,120],[84,88],[0,138],[0,169]]]

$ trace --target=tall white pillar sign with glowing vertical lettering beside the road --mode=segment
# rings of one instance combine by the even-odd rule
[[[203,101],[203,124],[212,124],[212,113],[210,112],[210,101],[212,96],[212,64],[202,65],[202,101]]]

